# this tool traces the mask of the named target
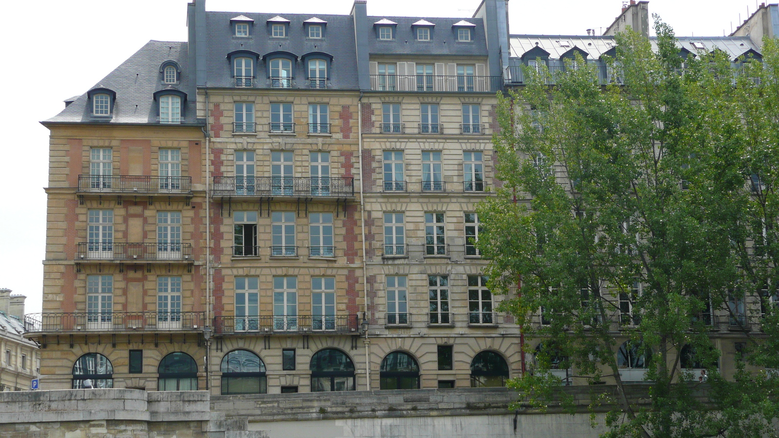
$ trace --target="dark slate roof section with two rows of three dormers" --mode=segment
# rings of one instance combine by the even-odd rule
[[[290,20],[287,37],[274,38],[270,36],[267,20],[277,14],[241,12],[244,16],[254,19],[249,37],[234,37],[230,19],[238,12],[207,12],[206,11],[206,69],[208,87],[234,87],[232,67],[227,54],[237,50],[254,51],[262,57],[273,51],[288,51],[298,56],[298,59],[312,51],[322,51],[333,56],[330,65],[330,83],[328,89],[358,90],[357,51],[354,47],[354,21],[348,15],[322,15],[319,19],[327,22],[324,26],[324,37],[308,38],[303,23],[311,19],[312,14],[284,14]],[[311,23],[311,22],[308,22]],[[268,76],[270,66],[262,59],[258,60],[255,76],[263,87],[264,78]],[[306,78],[305,65],[301,60],[295,63],[293,77],[295,83],[301,85]]]

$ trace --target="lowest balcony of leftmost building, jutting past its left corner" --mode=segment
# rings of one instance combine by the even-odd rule
[[[28,313],[26,333],[200,331],[203,312]]]

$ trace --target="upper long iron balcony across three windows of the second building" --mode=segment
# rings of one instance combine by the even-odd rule
[[[215,176],[212,196],[242,198],[351,198],[354,197],[354,178],[305,176]]]

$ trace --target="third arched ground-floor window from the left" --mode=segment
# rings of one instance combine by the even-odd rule
[[[222,359],[222,395],[266,394],[263,359],[249,350],[234,350]]]

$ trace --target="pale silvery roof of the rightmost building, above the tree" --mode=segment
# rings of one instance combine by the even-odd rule
[[[756,46],[749,37],[677,37],[679,42],[677,46],[679,48],[686,48],[694,54],[699,52],[699,49],[693,47],[693,42],[703,43],[706,47],[703,52],[713,51],[714,48],[719,48],[734,61],[739,55],[742,55],[745,51],[753,49],[760,52],[760,48]],[[568,47],[562,47],[560,41],[568,41]],[[650,37],[652,48],[657,48],[657,38]],[[549,52],[550,59],[559,59],[560,55],[571,50],[574,46],[586,51],[588,59],[597,59],[605,51],[613,48],[615,45],[614,37],[587,37],[580,35],[511,35],[509,37],[509,44],[511,46],[511,57],[520,58],[525,52],[530,51],[536,46]]]

